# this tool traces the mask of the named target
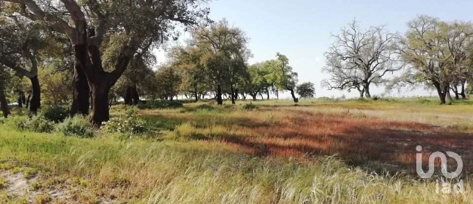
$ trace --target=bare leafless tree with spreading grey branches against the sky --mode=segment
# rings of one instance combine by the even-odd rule
[[[353,21],[338,35],[332,36],[335,42],[325,53],[327,66],[323,68],[331,78],[322,81],[322,86],[348,91],[357,89],[360,97],[370,98],[371,85],[387,82],[386,74],[404,67],[393,49],[398,34],[388,32],[384,26],[362,30]]]

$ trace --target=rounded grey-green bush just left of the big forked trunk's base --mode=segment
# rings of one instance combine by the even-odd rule
[[[67,137],[91,138],[94,137],[96,128],[90,122],[90,117],[75,115],[66,118],[56,130]]]

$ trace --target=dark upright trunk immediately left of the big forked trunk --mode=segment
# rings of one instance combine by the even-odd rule
[[[89,96],[90,87],[84,70],[80,66],[77,59],[74,62],[74,76],[72,77],[72,105],[70,107],[70,115],[76,114],[89,115]]]

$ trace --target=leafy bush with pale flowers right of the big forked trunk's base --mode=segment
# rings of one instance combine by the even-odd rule
[[[130,107],[125,111],[125,115],[103,122],[101,129],[107,134],[120,134],[126,137],[144,134],[149,130],[146,121],[139,118],[138,113],[139,109]]]

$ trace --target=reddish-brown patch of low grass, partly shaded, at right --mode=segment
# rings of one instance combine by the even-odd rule
[[[229,144],[253,149],[256,156],[304,158],[307,155],[338,154],[347,164],[378,174],[415,175],[415,147],[423,146],[423,163],[432,152],[453,151],[464,163],[464,173],[473,171],[473,134],[453,133],[438,127],[351,117],[307,117],[300,125],[254,128],[265,137],[222,136]],[[268,134],[270,133],[270,134]],[[439,164],[437,162],[436,164]],[[454,161],[448,164],[453,171]]]

